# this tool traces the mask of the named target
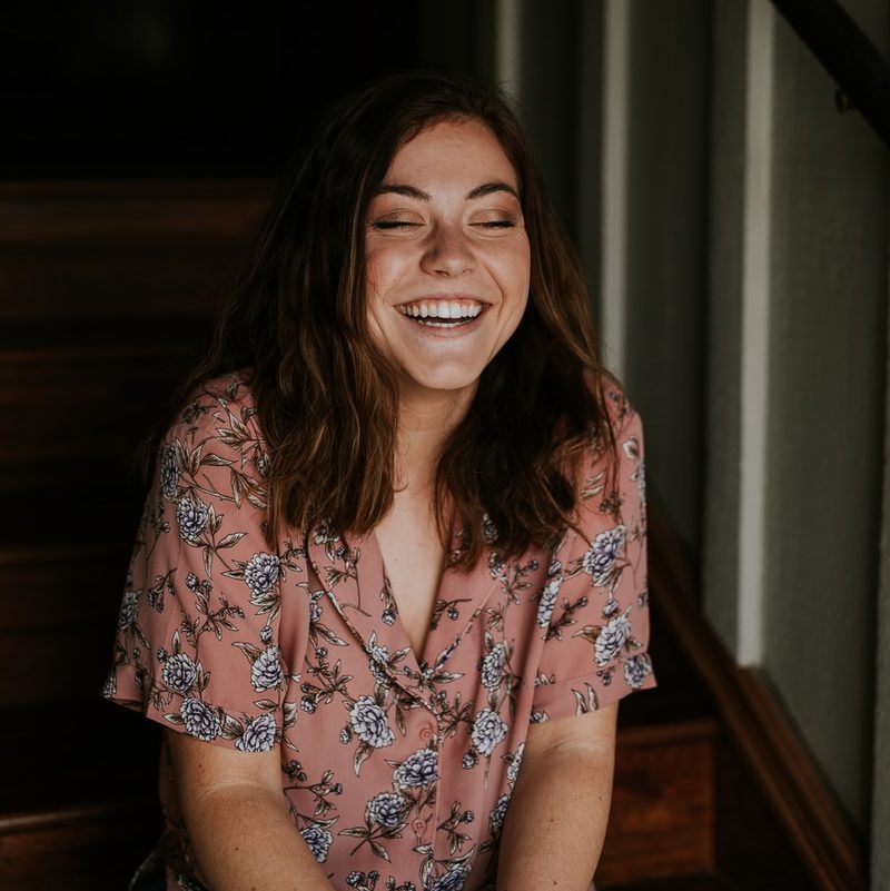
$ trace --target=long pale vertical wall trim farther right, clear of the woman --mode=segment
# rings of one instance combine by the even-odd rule
[[[763,661],[767,542],[774,13],[768,0],[750,0],[748,16],[738,659],[758,665]]]

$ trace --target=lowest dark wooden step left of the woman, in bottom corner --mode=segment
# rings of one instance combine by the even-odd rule
[[[96,695],[0,711],[0,888],[127,888],[160,831],[157,743]]]

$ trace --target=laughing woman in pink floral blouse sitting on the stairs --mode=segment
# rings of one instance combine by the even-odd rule
[[[502,96],[342,103],[191,390],[106,691],[167,727],[166,887],[589,888],[641,434]]]

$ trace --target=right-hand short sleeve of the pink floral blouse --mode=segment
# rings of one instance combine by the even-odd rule
[[[554,553],[541,595],[546,630],[533,720],[602,707],[655,685],[649,644],[643,435],[623,394],[606,393],[617,461],[591,449],[580,523]]]

